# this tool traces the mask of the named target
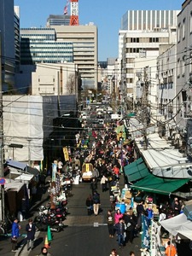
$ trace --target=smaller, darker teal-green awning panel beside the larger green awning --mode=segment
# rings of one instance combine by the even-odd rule
[[[143,158],[139,158],[124,168],[125,176],[128,182],[132,183],[148,175],[148,167],[145,165]]]

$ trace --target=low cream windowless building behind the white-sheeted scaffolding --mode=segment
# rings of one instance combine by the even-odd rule
[[[32,95],[76,95],[78,98],[78,70],[74,63],[36,65],[32,73]]]

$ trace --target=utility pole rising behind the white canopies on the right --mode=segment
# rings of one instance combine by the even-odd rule
[[[144,67],[143,95],[142,95],[142,120],[143,120],[143,137],[144,149],[148,149],[147,127],[148,127],[148,67]]]

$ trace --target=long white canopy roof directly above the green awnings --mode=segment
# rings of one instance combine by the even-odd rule
[[[192,163],[183,157],[177,149],[173,148],[157,133],[148,135],[148,148],[144,148],[144,138],[136,138],[137,148],[150,171],[159,177],[191,178]]]

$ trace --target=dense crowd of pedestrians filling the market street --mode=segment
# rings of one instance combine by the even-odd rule
[[[122,125],[122,124],[119,124]],[[142,228],[142,214],[148,218],[148,225],[151,219],[154,218],[152,207],[144,207],[144,201],[140,201],[137,207],[133,209],[125,209],[121,212],[120,208],[116,208],[116,202],[119,201],[119,192],[117,195],[115,191],[119,191],[119,178],[122,177],[123,168],[134,161],[134,144],[130,141],[125,143],[123,133],[120,135],[114,130],[113,125],[109,125],[107,129],[97,131],[90,131],[90,137],[94,137],[93,141],[87,137],[86,133],[82,133],[78,137],[79,148],[76,148],[66,166],[60,163],[59,171],[62,172],[64,168],[72,169],[73,172],[79,170],[84,162],[93,165],[92,180],[90,182],[90,195],[85,200],[87,207],[87,214],[90,216],[94,214],[97,216],[102,209],[101,196],[98,193],[98,186],[102,188],[102,193],[109,194],[113,198],[111,209],[108,210],[107,223],[108,223],[108,236],[109,238],[117,237],[119,248],[125,247],[129,243],[133,243],[134,238],[137,237],[138,232]],[[126,134],[127,137],[127,134]],[[84,148],[86,141],[88,148]],[[44,182],[42,182],[44,187]],[[177,215],[182,211],[183,204],[177,198],[170,206],[168,203],[160,203],[160,221],[165,218]],[[15,219],[12,225],[12,251],[16,250],[17,238],[19,237],[20,226],[18,220]],[[32,250],[34,247],[33,241],[35,236],[35,226],[32,219],[29,219],[26,225],[26,244],[27,249]],[[168,250],[168,249],[167,249]],[[50,255],[46,247],[42,248],[39,255]],[[112,249],[111,255],[118,255],[115,248]],[[134,252],[130,252],[130,256],[135,256]]]

